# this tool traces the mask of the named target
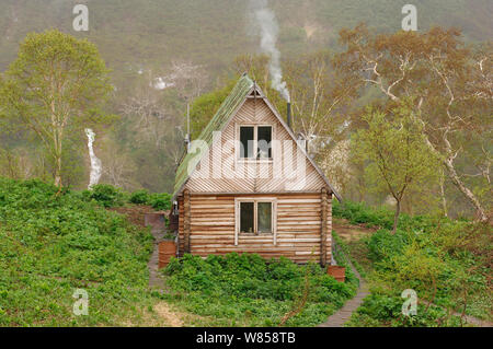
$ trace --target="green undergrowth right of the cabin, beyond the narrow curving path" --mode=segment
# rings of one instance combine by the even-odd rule
[[[334,216],[382,228],[347,245],[336,240],[364,271],[371,290],[349,326],[460,325],[449,311],[491,321],[491,226],[404,214],[392,234],[392,212],[386,209],[345,202],[335,205]],[[417,292],[416,316],[401,313],[401,293],[406,289]]]

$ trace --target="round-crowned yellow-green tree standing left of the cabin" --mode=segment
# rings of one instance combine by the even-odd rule
[[[0,104],[42,140],[59,187],[66,139],[108,120],[100,110],[112,89],[107,72],[93,44],[51,30],[28,34],[4,73]]]

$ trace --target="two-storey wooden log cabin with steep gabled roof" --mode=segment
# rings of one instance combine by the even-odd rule
[[[243,74],[192,142],[175,178],[177,255],[256,253],[331,264],[337,194]]]

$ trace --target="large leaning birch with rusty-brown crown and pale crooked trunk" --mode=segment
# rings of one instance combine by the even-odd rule
[[[488,220],[486,209],[472,187],[491,191],[491,46],[473,53],[465,47],[456,30],[375,35],[365,25],[341,31],[341,42],[346,50],[339,55],[336,67],[352,75],[357,88],[374,88],[390,104],[413,97],[424,142],[440,159],[478,217]],[[465,140],[474,146],[463,147]],[[471,163],[479,168],[474,178],[482,177],[482,182],[472,183],[466,175]]]

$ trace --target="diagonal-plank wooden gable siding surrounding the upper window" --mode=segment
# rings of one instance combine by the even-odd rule
[[[317,173],[317,170],[306,159],[302,152],[296,147],[295,142],[290,143],[290,149],[282,147],[282,149],[273,149],[273,160],[271,162],[244,161],[244,173],[248,175],[238,175],[240,167],[238,166],[238,151],[231,147],[231,140],[239,139],[240,125],[271,125],[273,126],[273,139],[284,142],[293,141],[287,130],[280,125],[276,116],[262,98],[249,98],[244,102],[238,113],[233,116],[228,126],[221,133],[221,142],[213,143],[211,151],[204,156],[208,161],[200,161],[197,168],[208,166],[208,177],[196,178],[191,177],[185,188],[191,193],[268,193],[268,191],[319,191],[325,183]],[[227,151],[223,151],[223,150]],[[222,150],[222,151],[221,151]],[[234,161],[231,161],[234,159]],[[230,165],[228,164],[228,160]],[[299,161],[305,164],[299,166]],[[293,165],[290,165],[293,163]],[[214,166],[218,165],[222,170],[220,177],[214,177]],[[276,166],[276,167],[274,167]],[[274,168],[294,168],[296,178],[278,178],[274,175]]]

